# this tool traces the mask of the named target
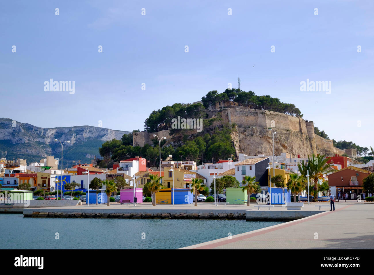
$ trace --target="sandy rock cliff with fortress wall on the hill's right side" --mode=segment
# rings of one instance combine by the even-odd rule
[[[237,125],[232,137],[236,153],[246,155],[272,155],[272,128],[275,155],[290,153],[293,157],[306,158],[311,153],[333,156],[344,151],[333,147],[331,140],[314,134],[313,122],[273,111],[224,109],[221,111],[225,122]]]

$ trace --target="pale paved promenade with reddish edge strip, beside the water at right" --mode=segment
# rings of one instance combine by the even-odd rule
[[[181,249],[373,249],[374,204],[336,205],[335,211]]]

